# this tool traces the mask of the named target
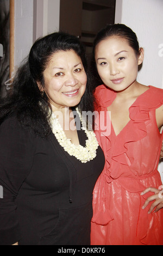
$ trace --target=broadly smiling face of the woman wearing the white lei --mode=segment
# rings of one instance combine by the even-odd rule
[[[87,77],[76,52],[54,53],[43,77],[45,86],[42,90],[47,94],[53,111],[78,105],[85,92]]]

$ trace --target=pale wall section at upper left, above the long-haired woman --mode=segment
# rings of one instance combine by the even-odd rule
[[[58,31],[59,8],[60,0],[15,0],[15,70],[37,38]]]

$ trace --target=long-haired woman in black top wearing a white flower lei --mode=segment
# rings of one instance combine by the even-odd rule
[[[82,111],[93,109],[86,72],[75,36],[47,35],[1,102],[1,245],[90,244],[104,155],[93,131],[81,129]]]

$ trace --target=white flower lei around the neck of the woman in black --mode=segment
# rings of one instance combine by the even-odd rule
[[[82,122],[81,114],[76,108],[77,113],[79,114],[80,121]],[[87,140],[85,142],[85,147],[82,145],[74,145],[71,143],[71,139],[67,139],[64,130],[62,129],[58,118],[52,113],[51,116],[52,131],[57,138],[59,144],[65,151],[71,156],[76,157],[82,163],[86,163],[96,157],[96,149],[98,148],[98,142],[93,131],[88,131],[83,129],[86,133]],[[83,126],[83,123],[82,123]]]

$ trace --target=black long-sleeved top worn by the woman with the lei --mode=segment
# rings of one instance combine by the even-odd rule
[[[84,146],[85,132],[78,136]],[[0,126],[0,245],[90,245],[92,192],[103,167],[100,147],[94,160],[82,163],[53,133],[37,137],[16,118],[5,120]]]

